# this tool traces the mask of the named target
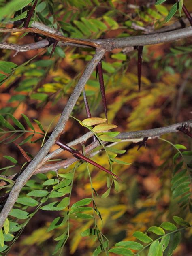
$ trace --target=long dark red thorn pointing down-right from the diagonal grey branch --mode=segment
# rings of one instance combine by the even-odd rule
[[[55,144],[57,144],[58,146],[60,146],[62,149],[67,150],[68,152],[70,152],[71,154],[75,155],[77,158],[82,159],[83,161],[90,163],[94,166],[96,166],[97,168],[101,169],[102,171],[105,171],[106,173],[109,173],[110,175],[114,176],[115,178],[119,179],[120,181],[122,181],[122,179],[120,179],[117,175],[115,175],[114,173],[111,173],[109,170],[107,170],[105,167],[101,166],[100,164],[94,162],[93,160],[87,158],[86,156],[83,156],[82,154],[80,154],[77,150],[72,149],[71,147],[69,147],[68,145],[66,145],[65,143],[61,142],[60,140],[56,141]]]

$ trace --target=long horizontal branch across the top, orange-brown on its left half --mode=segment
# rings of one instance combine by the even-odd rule
[[[34,32],[37,34],[43,34],[43,35],[49,36],[50,38],[54,38],[55,40],[58,40],[58,41],[62,41],[64,44],[67,44],[67,45],[84,46],[84,47],[88,46],[88,47],[94,47],[94,48],[102,47],[105,49],[105,51],[111,51],[115,48],[125,48],[125,47],[136,46],[136,45],[137,46],[153,45],[158,43],[176,41],[182,38],[188,38],[192,36],[192,27],[190,26],[187,28],[181,28],[174,31],[159,32],[156,34],[149,34],[149,35],[143,35],[143,36],[130,36],[125,38],[96,39],[96,40],[90,40],[90,39],[82,40],[82,39],[68,38],[58,34],[52,34],[51,32],[43,31],[38,28],[0,28],[0,32]],[[0,48],[3,48],[3,47],[0,47]]]

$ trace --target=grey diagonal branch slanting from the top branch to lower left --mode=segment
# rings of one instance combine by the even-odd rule
[[[13,186],[9,197],[4,205],[4,208],[1,211],[0,214],[0,229],[2,228],[7,216],[9,215],[9,212],[13,208],[13,205],[15,201],[17,200],[17,197],[19,196],[19,192],[21,191],[21,188],[25,185],[25,183],[30,179],[30,177],[35,173],[36,169],[39,169],[42,165],[43,158],[47,155],[49,152],[49,149],[55,144],[55,141],[60,137],[60,135],[64,132],[64,128],[66,125],[66,122],[68,121],[68,118],[70,116],[70,113],[73,110],[73,107],[75,106],[84,86],[87,80],[89,79],[90,75],[96,68],[98,62],[102,59],[103,55],[105,54],[104,49],[100,49],[99,51],[96,51],[94,57],[87,65],[87,68],[85,68],[85,71],[83,72],[83,75],[79,79],[79,82],[77,83],[73,93],[71,94],[63,112],[62,115],[58,121],[58,124],[55,126],[55,129],[53,130],[51,136],[45,143],[45,145],[40,149],[38,154],[34,157],[34,159],[30,162],[28,167],[21,173],[21,175],[17,178],[17,181],[15,182],[15,185]]]

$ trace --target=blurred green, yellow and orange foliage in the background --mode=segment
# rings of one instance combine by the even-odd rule
[[[33,19],[51,28],[56,28],[64,36],[72,38],[136,36],[143,34],[144,28],[152,30],[162,28],[174,2],[170,0],[155,6],[155,1],[152,0],[46,0],[38,1]],[[192,12],[190,0],[184,2],[188,10]],[[33,1],[29,0],[25,6],[21,6],[21,1],[9,3],[0,1],[2,10],[8,7],[7,10],[13,10],[12,13],[6,15],[6,19],[12,22],[25,18],[27,5],[32,3]],[[13,9],[13,4],[18,6]],[[1,15],[3,15],[2,12]],[[179,13],[176,13],[166,25],[174,23],[178,18]],[[4,26],[4,23],[1,23],[1,26]],[[6,25],[6,27],[11,26]],[[140,29],[135,29],[135,26],[139,26]],[[25,36],[21,33],[2,34],[1,41],[27,44],[34,41],[34,36],[31,33]],[[42,145],[45,132],[49,135],[55,127],[73,88],[94,54],[92,49],[57,46],[53,56],[49,59],[51,49],[50,46],[48,49],[17,54],[11,50],[0,50],[2,70],[0,73],[0,114],[16,131],[19,130],[12,131],[12,134],[9,132],[1,134],[2,175],[12,175],[19,171],[25,162],[13,141],[20,143],[31,157],[36,155]],[[136,51],[122,52],[122,49],[115,49],[106,53],[102,66],[109,123],[116,124],[118,126],[116,130],[124,132],[157,128],[190,119],[191,52],[191,38],[145,46],[141,92],[138,92],[137,86]],[[104,118],[96,72],[91,75],[85,90],[92,116]],[[13,118],[10,119],[8,114],[18,119],[23,124],[23,129],[22,127],[17,129],[18,125],[15,124]],[[29,122],[25,122],[26,118],[21,114],[29,118],[32,126]],[[86,118],[83,95],[80,96],[73,115],[79,120]],[[67,143],[87,131],[87,128],[70,118],[62,139]],[[8,137],[8,135],[12,136]],[[163,138],[174,144],[183,144],[190,150],[191,142],[183,134],[167,134]],[[56,148],[58,146],[55,145],[51,150]],[[80,149],[79,146],[76,148]],[[139,151],[137,151],[137,145],[130,142],[118,143],[115,148],[125,149],[126,153],[118,155],[118,159],[131,163],[131,165],[113,164],[114,172],[124,182],[110,186],[111,177],[89,166],[92,186],[98,195],[102,196],[109,187],[111,188],[108,196],[107,194],[104,194],[102,198],[94,196],[103,221],[102,223],[97,216],[98,229],[102,230],[102,233],[109,239],[110,246],[119,241],[136,241],[136,238],[132,236],[134,231],[145,232],[150,226],[159,226],[162,222],[172,221],[174,215],[190,221],[188,207],[185,210],[181,209],[177,201],[172,198],[171,178],[174,169],[172,159],[176,151],[169,143],[154,139],[147,141],[147,148],[141,148]],[[2,158],[4,155],[17,159],[17,163],[14,164],[12,161],[10,164],[10,159]],[[59,157],[65,159],[69,156],[69,153],[64,152]],[[105,153],[100,153],[93,159],[109,168]],[[7,168],[7,166],[13,167]],[[60,169],[59,174],[71,173],[71,170],[76,168],[74,166],[76,165]],[[32,177],[23,188],[21,197],[34,189],[42,190],[42,183],[47,179],[57,179],[56,173],[49,172]],[[81,163],[75,170],[70,205],[83,198],[91,197],[92,190],[87,165]],[[55,201],[54,198],[49,199],[49,203],[53,201]],[[16,207],[34,213],[32,206],[21,207],[17,203]],[[67,224],[58,226],[49,232],[47,229],[55,218],[64,216],[66,212],[67,208],[62,211],[40,209],[29,223],[29,219],[25,222],[17,220],[18,223],[24,223],[23,227],[26,227],[21,235],[17,233],[15,236],[18,238],[17,241],[13,237],[13,240],[10,237],[7,238],[8,242],[15,241],[7,255],[51,255],[56,244],[54,239],[67,229]],[[86,213],[92,214],[92,210]],[[75,218],[73,215],[70,217],[70,239],[66,241],[62,255],[92,255],[93,248],[99,245],[98,240],[95,236],[84,237],[80,234],[87,228],[92,228],[93,223],[92,218],[84,220]],[[15,229],[13,230],[16,232]],[[188,229],[183,233],[182,241],[173,255],[190,255],[192,250],[190,236],[191,230]],[[141,252],[140,256],[147,255],[147,250]],[[105,253],[100,255],[105,255]],[[110,255],[115,254],[110,253]]]

